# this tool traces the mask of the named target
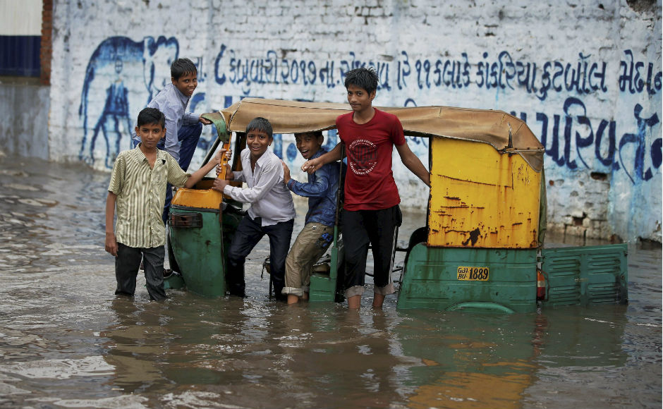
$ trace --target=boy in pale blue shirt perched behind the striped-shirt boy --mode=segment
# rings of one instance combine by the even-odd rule
[[[183,171],[186,171],[191,163],[193,152],[200,140],[202,125],[212,123],[193,112],[186,112],[189,99],[198,85],[197,78],[197,69],[190,59],[176,59],[171,64],[171,83],[147,104],[147,108],[159,109],[166,116],[166,137],[159,141],[157,148],[171,154]],[[134,146],[140,142],[138,135],[134,135],[133,140]],[[164,224],[168,220],[172,199],[173,188],[169,184],[162,214]]]

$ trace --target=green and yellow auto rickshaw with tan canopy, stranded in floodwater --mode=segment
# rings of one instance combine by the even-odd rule
[[[502,111],[446,106],[379,107],[399,117],[406,136],[429,139],[427,223],[408,240],[397,307],[532,312],[537,305],[626,303],[626,244],[543,248],[546,230],[544,147],[521,119]],[[234,171],[245,128],[256,116],[274,133],[331,130],[348,104],[246,98],[209,114],[219,144],[234,133]],[[224,177],[222,173],[219,177]],[[166,286],[225,294],[224,248],[241,203],[211,190],[205,178],[178,189],[169,215],[169,259],[178,275]],[[342,205],[342,204],[341,204]],[[333,301],[339,228],[328,269],[312,274],[310,301]]]

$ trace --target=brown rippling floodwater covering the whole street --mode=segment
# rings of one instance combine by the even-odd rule
[[[150,303],[140,281],[113,294],[108,178],[0,157],[0,408],[661,407],[660,245],[629,248],[628,305],[288,307],[260,278],[266,242],[245,300]],[[402,242],[424,216],[404,219]]]

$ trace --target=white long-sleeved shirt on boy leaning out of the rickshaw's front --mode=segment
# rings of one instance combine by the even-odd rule
[[[239,202],[250,203],[252,219],[262,217],[262,226],[272,226],[296,216],[290,190],[283,183],[283,165],[274,152],[267,150],[255,162],[251,171],[250,150],[241,152],[242,171],[233,172],[234,180],[245,182],[247,188],[226,185],[224,193]]]

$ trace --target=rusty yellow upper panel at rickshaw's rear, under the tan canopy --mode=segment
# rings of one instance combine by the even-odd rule
[[[485,143],[432,138],[428,245],[535,248],[541,173]]]

